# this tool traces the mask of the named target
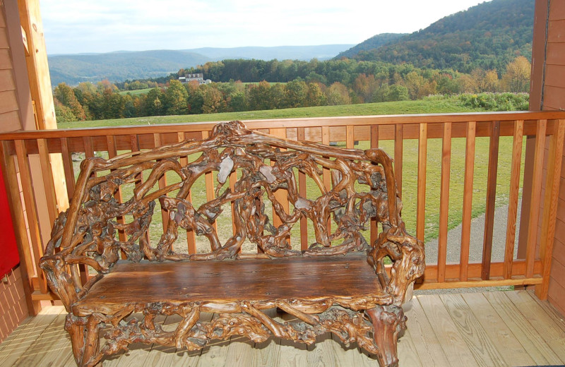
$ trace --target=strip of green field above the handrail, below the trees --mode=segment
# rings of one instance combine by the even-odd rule
[[[340,106],[302,107],[295,109],[270,109],[266,111],[225,112],[222,114],[194,114],[176,116],[145,116],[131,119],[74,121],[60,123],[59,128],[99,126],[183,124],[190,122],[293,119],[326,116],[369,116],[379,114],[434,114],[446,112],[483,112],[484,109],[465,107],[458,97],[431,97],[417,101],[343,104]]]

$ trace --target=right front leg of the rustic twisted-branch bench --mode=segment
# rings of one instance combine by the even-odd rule
[[[396,341],[405,330],[405,315],[398,306],[376,306],[365,311],[373,324],[373,337],[379,348],[377,359],[381,367],[398,366]]]

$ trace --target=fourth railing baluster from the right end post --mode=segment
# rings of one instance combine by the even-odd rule
[[[469,244],[471,241],[472,183],[475,174],[475,142],[477,123],[467,123],[465,141],[465,181],[463,183],[463,218],[461,221],[461,252],[459,280],[467,282],[469,265]]]

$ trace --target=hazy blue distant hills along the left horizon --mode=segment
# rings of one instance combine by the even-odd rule
[[[235,47],[185,50],[153,50],[139,52],[109,52],[106,54],[58,54],[49,56],[52,85],[65,82],[76,85],[83,81],[108,79],[119,82],[128,79],[155,78],[176,73],[181,68],[222,59],[331,59],[351,44],[319,46]]]

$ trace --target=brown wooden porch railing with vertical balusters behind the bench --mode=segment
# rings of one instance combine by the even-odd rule
[[[218,121],[220,122],[220,121]],[[412,141],[409,145],[403,147],[403,142],[412,139],[417,140],[417,167],[413,162],[408,167],[408,172],[417,175],[417,197],[412,201],[417,203],[417,217],[415,223],[416,234],[419,239],[424,240],[424,229],[426,222],[426,177],[427,177],[427,161],[441,162],[441,174],[437,177],[441,179],[439,191],[441,193],[439,200],[439,228],[441,234],[437,244],[437,263],[428,264],[425,279],[423,283],[417,284],[421,288],[435,287],[484,287],[494,285],[516,285],[516,284],[538,284],[540,287],[536,289],[547,289],[549,282],[548,262],[551,259],[552,239],[554,233],[554,223],[557,211],[557,202],[559,196],[559,179],[561,169],[561,152],[563,141],[565,139],[565,112],[564,111],[525,111],[525,112],[472,112],[472,113],[446,113],[446,114],[411,114],[411,115],[384,115],[384,116],[338,116],[338,117],[314,117],[314,118],[289,118],[289,119],[263,119],[244,121],[246,126],[251,130],[261,130],[280,138],[288,138],[292,140],[309,140],[330,144],[331,142],[345,142],[345,148],[355,148],[355,141],[365,141],[365,146],[369,148],[379,148],[379,141],[393,140],[393,157],[394,169],[398,192],[403,195],[403,155],[406,150],[411,154],[415,153],[415,143]],[[27,223],[30,223],[30,245],[31,252],[25,255],[26,262],[30,264],[28,270],[29,277],[33,282],[33,288],[37,291],[34,294],[34,300],[50,299],[47,294],[47,285],[42,279],[42,273],[37,270],[37,274],[33,274],[33,268],[36,267],[37,259],[42,255],[42,237],[43,232],[47,229],[47,222],[50,224],[57,216],[58,210],[63,210],[65,205],[57,207],[57,203],[53,198],[59,198],[56,191],[65,191],[69,197],[73,196],[75,188],[75,171],[72,162],[72,153],[83,153],[85,157],[95,156],[95,152],[107,152],[108,157],[115,157],[121,151],[138,152],[141,150],[153,149],[162,145],[179,143],[186,139],[203,139],[209,136],[210,131],[217,124],[213,122],[196,122],[186,124],[155,124],[150,126],[110,126],[102,128],[73,128],[60,130],[44,130],[44,131],[16,131],[12,133],[0,134],[0,163],[6,170],[6,177],[11,177],[12,199],[20,203],[20,190],[23,191],[23,200],[21,206],[27,207],[28,210],[16,213],[19,215],[20,230],[23,242],[28,242],[28,232],[25,229],[24,215],[27,216]],[[524,137],[538,137],[535,140],[528,139],[530,148],[528,154],[533,155],[535,152],[535,162],[530,162],[530,171],[528,173],[522,170],[523,160],[522,147],[524,145]],[[489,139],[488,152],[484,152],[482,157],[489,157],[487,164],[489,195],[487,196],[487,204],[489,219],[485,221],[485,238],[492,236],[494,229],[494,221],[492,220],[492,212],[494,210],[494,200],[496,200],[496,177],[499,143],[504,137],[504,145],[506,151],[504,155],[511,154],[511,175],[513,180],[509,183],[509,220],[506,225],[506,243],[505,258],[501,262],[491,261],[492,241],[485,240],[483,243],[482,261],[475,263],[469,258],[470,251],[470,222],[472,215],[472,200],[475,178],[475,143],[481,141],[484,147],[484,138]],[[539,138],[543,137],[543,138]],[[547,139],[546,139],[547,137]],[[437,152],[437,141],[433,139],[441,139],[441,150]],[[460,261],[449,263],[446,258],[446,250],[448,241],[446,234],[448,231],[448,213],[451,210],[449,205],[450,172],[451,159],[449,158],[454,150],[451,142],[455,138],[465,139],[465,200],[463,203],[463,231],[460,242]],[[478,140],[480,138],[481,140]],[[508,141],[511,138],[511,152],[507,148]],[[455,140],[453,140],[455,141]],[[458,140],[457,152],[461,153],[461,141]],[[549,141],[549,144],[546,142]],[[535,146],[532,143],[535,142]],[[430,148],[428,152],[428,144]],[[549,148],[547,147],[549,145]],[[383,144],[390,148],[390,142]],[[410,149],[408,149],[410,148]],[[55,156],[54,153],[62,153]],[[432,156],[429,156],[431,154]],[[485,155],[486,154],[486,155]],[[544,160],[544,157],[549,159]],[[64,172],[64,180],[61,177],[54,178],[49,175],[52,171],[53,162],[57,160],[61,164],[62,172]],[[558,159],[559,158],[559,159]],[[186,164],[187,157],[181,157]],[[480,159],[477,159],[480,160]],[[546,162],[547,163],[544,163]],[[38,165],[38,162],[40,165]],[[30,164],[35,165],[36,171],[46,172],[38,177],[37,172],[33,171]],[[435,164],[435,163],[434,163]],[[460,163],[457,163],[460,164]],[[17,171],[19,170],[20,179]],[[405,173],[407,169],[404,170]],[[549,173],[547,173],[549,172]],[[518,196],[521,188],[521,179],[528,176],[532,180],[532,188],[528,193],[524,193],[524,197],[533,205],[543,203],[544,210],[530,210],[527,215],[527,221],[520,224],[516,223],[516,210],[518,210]],[[59,184],[55,184],[54,179],[59,180]],[[206,198],[214,197],[214,178],[211,173],[206,174]],[[323,184],[327,187],[331,186],[331,175],[329,172],[323,172]],[[436,177],[434,176],[434,179]],[[34,181],[35,180],[35,181]],[[66,181],[66,183],[64,183]],[[160,180],[160,187],[167,181],[166,177]],[[62,186],[61,186],[62,182]],[[18,190],[18,184],[21,188]],[[551,189],[542,195],[542,185]],[[423,186],[422,186],[423,185]],[[506,185],[506,183],[505,183]],[[47,193],[47,199],[42,199],[45,203],[41,205],[47,207],[42,212],[42,220],[38,220],[40,215],[35,205],[35,187],[43,189]],[[306,183],[304,177],[299,173],[299,186],[301,187],[300,195],[307,195]],[[453,186],[453,185],[451,185]],[[413,186],[412,186],[413,187]],[[530,192],[531,191],[531,192]],[[405,191],[408,193],[410,191]],[[121,193],[117,193],[121,197]],[[64,195],[62,195],[64,196]],[[61,196],[61,197],[62,197]],[[121,200],[121,199],[120,199]],[[284,201],[284,200],[283,200]],[[16,203],[15,207],[17,207]],[[287,205],[287,204],[286,204]],[[62,209],[61,209],[62,208]],[[546,209],[547,208],[547,209]],[[162,212],[163,216],[164,213]],[[47,220],[46,217],[49,217]],[[538,229],[537,224],[542,219],[542,228]],[[165,226],[165,222],[163,222]],[[514,241],[516,239],[515,227],[524,229],[523,233],[528,234],[528,238],[520,239],[521,246],[526,248],[526,255],[519,258],[514,256]],[[370,227],[371,241],[376,239],[378,234],[376,225],[373,223]],[[41,236],[40,236],[40,231]],[[307,224],[300,224],[300,246],[304,250],[304,246],[309,245],[307,235]],[[537,234],[542,233],[542,241],[538,241]],[[120,234],[121,236],[122,234]],[[196,239],[194,231],[187,230],[186,241],[189,252],[196,251]],[[541,247],[540,247],[541,246]],[[540,255],[536,250],[540,248]],[[35,262],[32,260],[35,258]],[[28,260],[29,259],[29,260]],[[39,276],[38,276],[39,275]],[[84,273],[88,278],[88,274]]]

